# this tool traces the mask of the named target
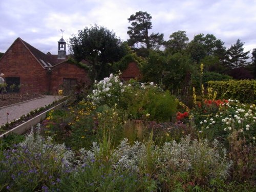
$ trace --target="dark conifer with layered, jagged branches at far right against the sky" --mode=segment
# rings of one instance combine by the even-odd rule
[[[236,44],[231,45],[227,50],[227,66],[231,69],[244,67],[248,64],[247,59],[249,58],[248,53],[250,51],[244,52],[243,46],[244,42],[238,39]]]

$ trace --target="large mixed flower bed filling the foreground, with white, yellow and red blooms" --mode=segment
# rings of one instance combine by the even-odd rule
[[[209,91],[188,109],[168,94],[113,75],[96,82],[88,98],[50,111],[38,133],[2,151],[1,187],[252,191],[255,105],[216,100]]]

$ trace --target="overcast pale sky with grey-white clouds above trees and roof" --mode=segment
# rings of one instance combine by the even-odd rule
[[[240,38],[244,51],[256,48],[256,0],[0,0],[0,52],[20,37],[40,51],[57,54],[61,38],[101,25],[127,40],[127,18],[138,11],[152,16],[150,33],[186,31],[214,34],[229,48]]]

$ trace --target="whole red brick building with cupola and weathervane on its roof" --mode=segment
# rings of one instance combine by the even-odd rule
[[[86,65],[76,63],[66,55],[66,42],[58,41],[58,55],[42,53],[21,38],[17,38],[0,58],[0,72],[5,74],[8,92],[51,93],[72,90],[76,82],[90,83]],[[10,87],[15,84],[14,88]]]

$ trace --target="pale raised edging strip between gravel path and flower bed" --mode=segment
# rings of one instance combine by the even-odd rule
[[[49,110],[47,110],[47,111],[37,115],[36,117],[34,117],[34,118],[32,118],[32,119],[30,119],[30,120],[28,120],[28,121],[26,121],[26,122],[16,126],[16,127],[14,127],[13,129],[9,130],[8,132],[5,132],[4,134],[0,135],[0,139],[4,138],[5,136],[7,136],[10,133],[16,133],[18,135],[23,134],[24,132],[29,130],[31,128],[31,126],[34,126],[37,123],[39,123],[40,121],[42,121],[43,119],[45,119],[46,118],[46,114],[48,112],[50,112],[51,110],[55,110],[55,109],[61,108],[64,102],[65,101],[57,104],[56,106],[54,106],[53,108],[51,108]]]

